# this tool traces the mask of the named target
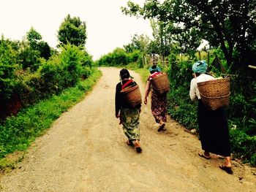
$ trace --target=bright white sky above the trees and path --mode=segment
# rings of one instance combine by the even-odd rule
[[[86,49],[94,59],[127,45],[134,34],[152,37],[149,20],[121,13],[128,0],[0,0],[0,34],[21,40],[31,26],[50,47],[58,44],[57,31],[64,18],[86,22]],[[143,4],[144,0],[132,0]]]

